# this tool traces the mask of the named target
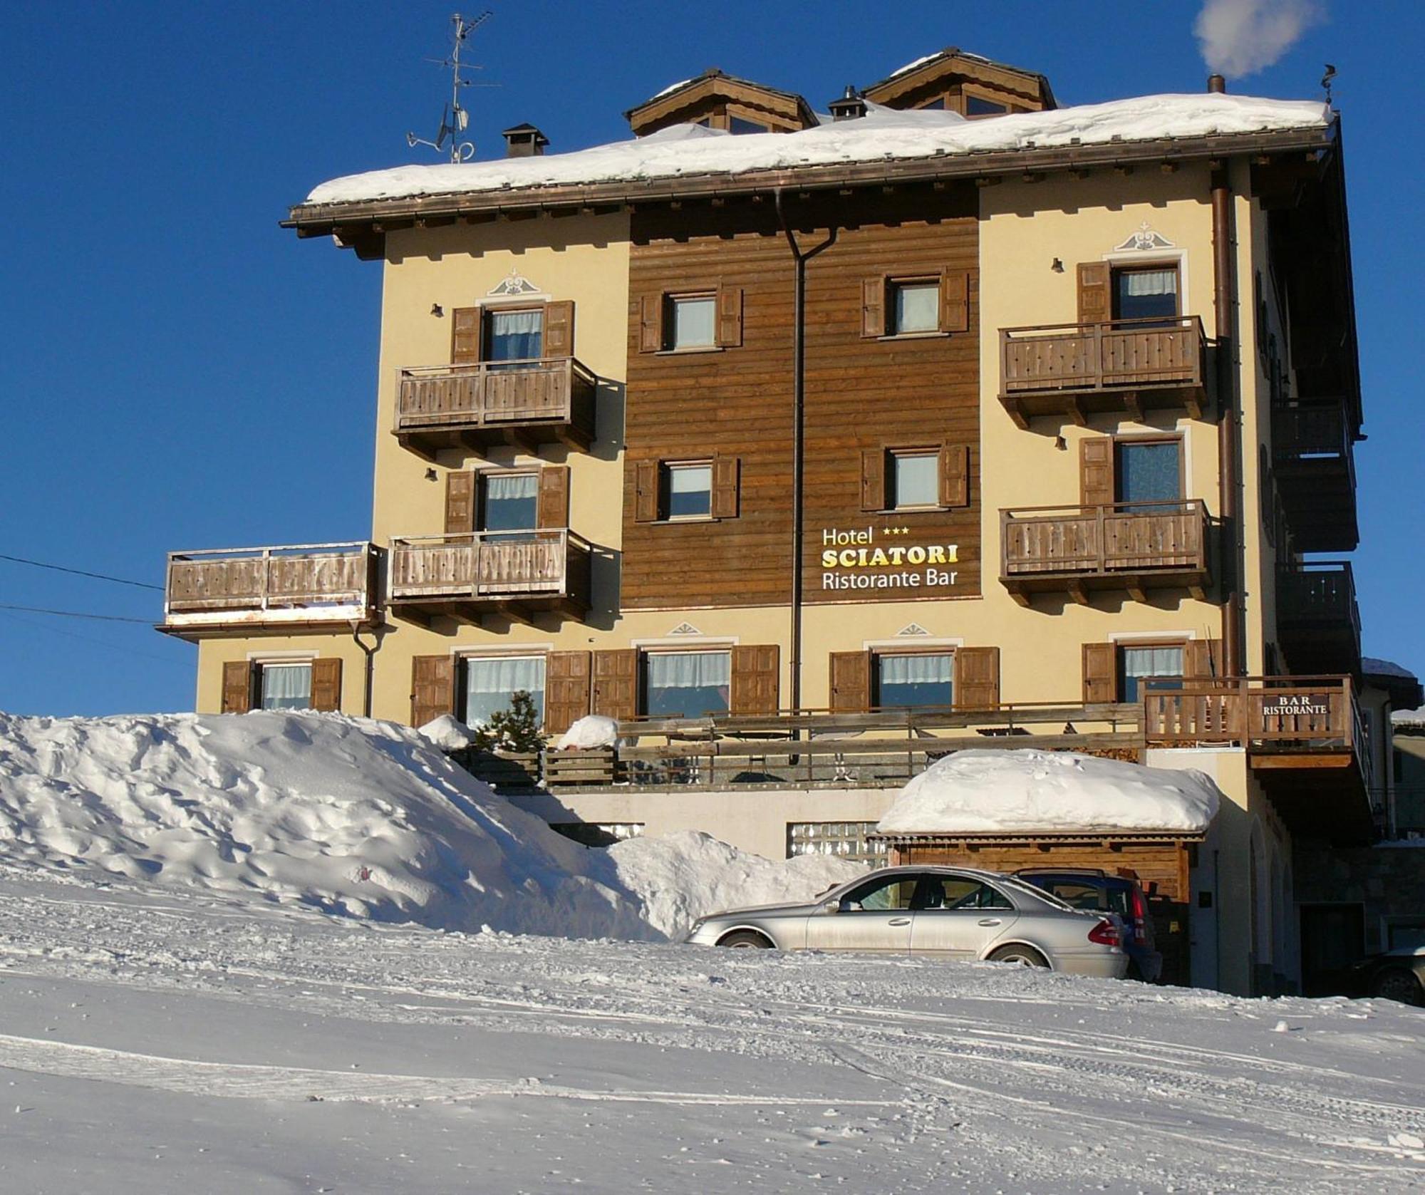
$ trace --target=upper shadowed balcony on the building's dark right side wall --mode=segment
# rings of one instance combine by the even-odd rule
[[[1305,399],[1271,412],[1271,465],[1300,552],[1351,552],[1355,449],[1344,399]]]

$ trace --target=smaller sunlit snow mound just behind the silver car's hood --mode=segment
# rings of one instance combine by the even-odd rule
[[[618,880],[643,900],[643,916],[677,941],[698,917],[754,904],[811,900],[866,866],[822,854],[772,861],[710,834],[681,830],[608,847]]]

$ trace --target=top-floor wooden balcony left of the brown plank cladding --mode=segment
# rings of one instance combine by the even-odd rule
[[[395,435],[422,456],[514,443],[587,449],[597,379],[573,357],[402,369]]]

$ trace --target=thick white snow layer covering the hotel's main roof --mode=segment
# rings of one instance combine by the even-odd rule
[[[952,111],[899,111],[872,104],[859,120],[795,133],[734,137],[700,125],[673,125],[647,137],[566,154],[375,170],[323,183],[312,190],[305,202],[358,204],[808,165],[1321,130],[1328,127],[1330,118],[1327,106],[1317,100],[1264,100],[1211,93],[1143,96],[976,121]]]

